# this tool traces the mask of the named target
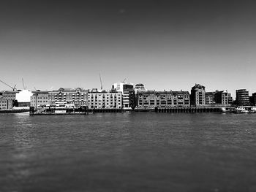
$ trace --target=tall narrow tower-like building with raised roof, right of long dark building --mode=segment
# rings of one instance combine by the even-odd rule
[[[192,107],[206,106],[206,87],[200,84],[195,84],[191,88],[190,102]]]

